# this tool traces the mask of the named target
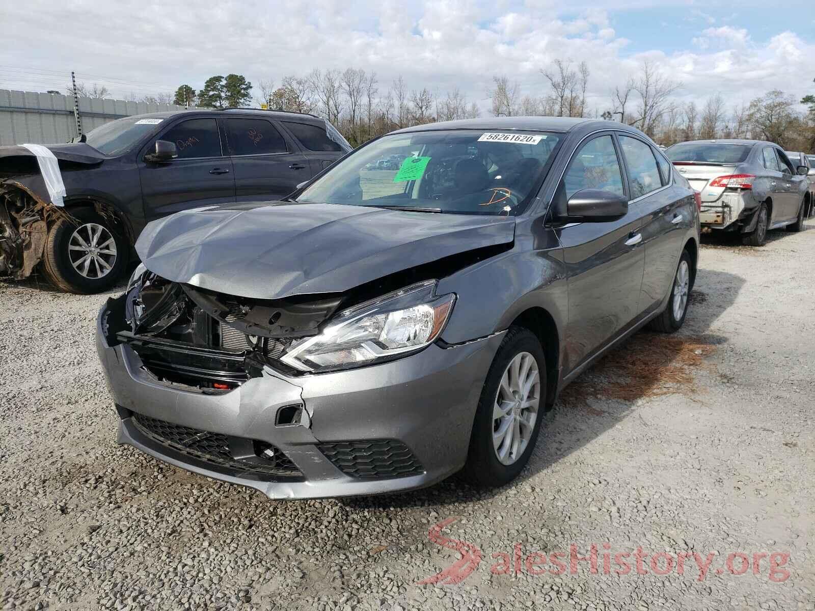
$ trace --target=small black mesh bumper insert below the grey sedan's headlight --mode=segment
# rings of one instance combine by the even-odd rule
[[[335,467],[351,477],[385,479],[425,473],[410,448],[395,439],[321,443],[318,447]]]

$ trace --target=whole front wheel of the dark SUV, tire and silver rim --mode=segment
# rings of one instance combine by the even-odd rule
[[[48,231],[42,268],[51,284],[63,291],[104,291],[127,266],[127,240],[94,211],[71,215],[78,222],[62,218]]]

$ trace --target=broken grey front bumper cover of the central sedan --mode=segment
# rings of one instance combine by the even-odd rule
[[[236,389],[207,393],[161,382],[129,345],[108,345],[104,310],[96,342],[120,417],[118,441],[271,499],[412,490],[455,473],[465,463],[482,382],[504,335],[430,345],[394,362],[335,373],[289,377],[267,367]],[[280,408],[291,406],[302,408],[302,419],[280,425]],[[183,434],[167,442],[152,422]],[[220,443],[221,457],[196,452],[198,442]],[[247,468],[240,443],[271,446],[293,470],[281,476]]]

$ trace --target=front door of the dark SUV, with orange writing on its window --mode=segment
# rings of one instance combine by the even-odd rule
[[[144,155],[156,140],[175,144],[178,157],[152,163]],[[148,221],[167,214],[235,201],[232,162],[224,154],[214,118],[183,119],[160,132],[139,153],[144,215]]]

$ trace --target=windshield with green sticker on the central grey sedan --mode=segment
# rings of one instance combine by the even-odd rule
[[[297,201],[518,214],[535,196],[563,134],[445,130],[394,134],[347,156]]]

